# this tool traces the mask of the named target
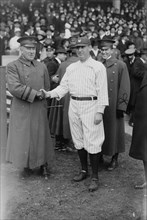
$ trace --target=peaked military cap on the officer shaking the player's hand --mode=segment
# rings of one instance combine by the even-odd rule
[[[25,46],[25,45],[34,46],[37,44],[38,39],[35,36],[24,36],[24,37],[20,37],[17,40],[17,42],[20,43],[21,46]]]

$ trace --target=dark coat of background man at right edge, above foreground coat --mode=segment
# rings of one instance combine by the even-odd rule
[[[132,107],[135,107],[136,95],[140,88],[146,69],[147,69],[147,64],[143,63],[140,57],[136,57],[134,64],[132,66],[131,75],[130,75],[131,94],[130,94],[129,103],[130,103],[130,106]]]

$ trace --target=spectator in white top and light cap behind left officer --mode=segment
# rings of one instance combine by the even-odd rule
[[[10,38],[9,41],[9,47],[10,47],[10,53],[19,55],[19,46],[20,43],[17,41],[21,37],[21,30],[20,28],[14,29],[14,37]]]

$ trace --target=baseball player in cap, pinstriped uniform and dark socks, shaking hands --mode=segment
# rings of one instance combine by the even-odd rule
[[[92,178],[89,191],[98,189],[98,153],[104,141],[102,114],[108,105],[107,76],[104,65],[90,56],[90,40],[80,37],[76,43],[79,61],[66,68],[60,85],[46,92],[46,97],[61,99],[70,93],[69,122],[72,139],[78,151],[81,172],[73,178],[80,182],[88,176],[87,153]]]

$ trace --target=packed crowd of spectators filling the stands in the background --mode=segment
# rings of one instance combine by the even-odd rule
[[[133,41],[137,50],[147,46],[146,10],[133,0],[121,1],[120,11],[82,0],[1,1],[0,20],[0,56],[17,54],[17,39],[23,35],[36,35],[42,45],[53,41],[56,48],[68,47],[69,39],[78,35],[113,37],[121,53],[126,41]]]

